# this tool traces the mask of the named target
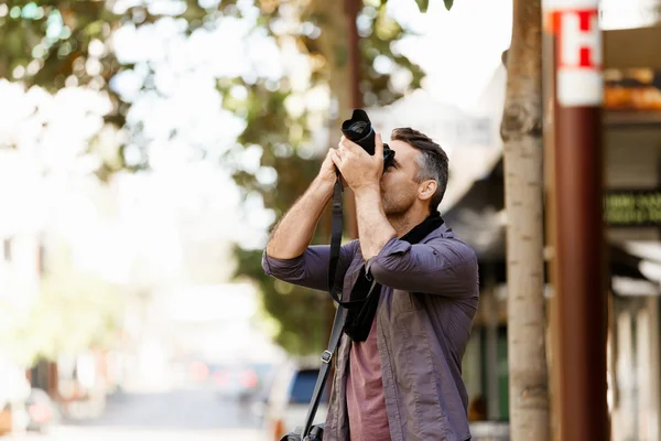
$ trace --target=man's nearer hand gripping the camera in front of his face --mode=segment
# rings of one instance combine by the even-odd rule
[[[344,136],[337,150],[329,151],[333,163],[339,169],[347,185],[354,191],[365,187],[379,187],[383,174],[383,142],[381,135],[375,138],[375,154],[370,155],[360,146]]]

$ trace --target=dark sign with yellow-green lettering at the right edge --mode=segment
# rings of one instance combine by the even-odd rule
[[[611,227],[661,226],[661,190],[614,190],[604,198]]]

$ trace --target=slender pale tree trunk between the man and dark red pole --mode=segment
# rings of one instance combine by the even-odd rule
[[[501,135],[507,208],[511,440],[549,439],[542,173],[541,1],[514,0]]]

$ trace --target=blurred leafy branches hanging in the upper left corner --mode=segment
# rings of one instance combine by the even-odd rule
[[[223,1],[219,7],[213,0],[9,0],[0,4],[0,78],[20,80],[26,88],[41,86],[51,93],[67,86],[99,90],[112,104],[106,122],[120,129],[131,103],[118,96],[110,80],[134,66],[117,60],[113,33],[122,26],[151,26],[165,19],[182,24],[189,35],[213,25],[220,15],[240,15],[236,1]],[[153,73],[147,75],[142,87],[149,87],[150,77],[153,79]],[[129,135],[134,136],[134,130]],[[118,144],[110,155],[93,151],[101,159],[97,170],[101,180],[119,170],[148,165],[145,155],[142,161],[126,161],[127,144]],[[90,142],[89,148],[99,147]]]

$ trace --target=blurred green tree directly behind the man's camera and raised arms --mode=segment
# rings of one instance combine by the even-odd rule
[[[260,182],[259,173],[237,170],[235,180],[245,196],[260,194],[264,207],[272,209],[275,218],[291,207],[314,179],[322,155],[338,141],[339,122],[350,116],[351,109],[347,32],[350,8],[324,0],[301,1],[292,19],[291,4],[279,1],[260,3],[269,29],[273,29],[280,20],[292,20],[285,32],[272,34],[281,46],[292,42],[305,55],[310,68],[308,83],[301,87],[286,78],[278,85],[260,79],[253,84],[242,82],[248,89],[246,100],[229,107],[235,111],[248,111],[247,127],[239,142],[242,147],[260,146],[261,166],[277,175],[274,181]],[[384,2],[366,1],[359,9],[362,101],[366,106],[387,105],[405,90],[419,87],[422,72],[397,53],[394,43],[408,33],[388,17]],[[395,75],[408,77],[403,87],[398,88],[393,84]],[[225,103],[230,101],[227,93],[225,98]],[[300,109],[294,109],[296,111],[292,111],[293,99],[303,103]],[[315,103],[317,99],[322,103]],[[316,141],[321,146],[314,146],[314,131],[324,129],[327,138]],[[313,239],[315,243],[329,243],[329,213],[326,213]],[[332,308],[329,297],[264,276],[261,249],[243,249],[237,244],[236,255],[237,276],[258,282],[266,310],[280,324],[277,341],[292,353],[321,352],[327,340],[329,324],[324,316],[325,311]]]

